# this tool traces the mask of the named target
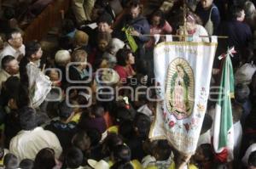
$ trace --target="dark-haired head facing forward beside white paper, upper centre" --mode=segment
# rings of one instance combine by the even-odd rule
[[[98,31],[99,32],[111,32],[111,25],[113,23],[113,20],[110,16],[110,14],[105,13],[102,14],[98,20],[97,20],[97,25],[98,25]]]

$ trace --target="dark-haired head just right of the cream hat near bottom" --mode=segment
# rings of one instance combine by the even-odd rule
[[[131,161],[131,149],[125,144],[115,146],[112,153],[114,161]]]

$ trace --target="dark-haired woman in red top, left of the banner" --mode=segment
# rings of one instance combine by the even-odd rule
[[[126,82],[128,77],[134,76],[136,73],[131,65],[134,65],[134,56],[130,49],[121,48],[116,54],[117,65],[113,68],[120,76],[121,82]]]

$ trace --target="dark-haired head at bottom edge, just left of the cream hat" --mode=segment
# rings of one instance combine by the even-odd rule
[[[70,148],[67,150],[66,164],[68,168],[78,168],[83,164],[84,155],[81,149]]]

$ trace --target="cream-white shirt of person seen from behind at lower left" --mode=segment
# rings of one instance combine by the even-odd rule
[[[18,160],[34,160],[38,151],[44,148],[55,150],[55,157],[59,158],[62,152],[59,139],[53,132],[36,127],[32,131],[21,130],[11,139],[9,151],[17,156]]]

